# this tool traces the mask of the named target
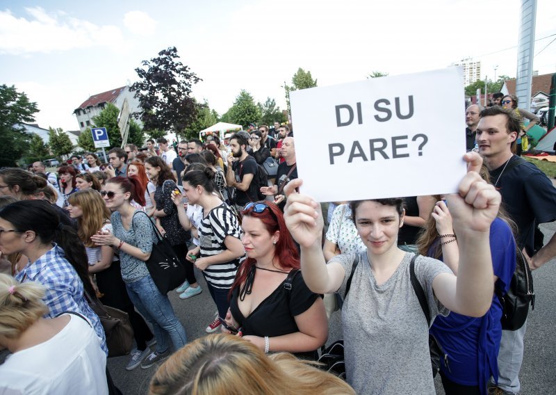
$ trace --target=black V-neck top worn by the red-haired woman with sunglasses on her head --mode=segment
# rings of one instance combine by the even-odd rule
[[[231,293],[230,312],[244,335],[275,337],[300,331],[295,323],[295,316],[306,312],[319,296],[307,288],[301,272],[293,277],[290,290],[284,288],[284,282],[281,282],[247,317],[243,316],[238,306],[240,287],[234,288]],[[313,358],[314,352],[295,355]]]

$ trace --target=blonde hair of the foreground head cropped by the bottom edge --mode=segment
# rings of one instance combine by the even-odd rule
[[[149,394],[355,394],[315,362],[291,354],[267,357],[250,341],[211,334],[178,350],[156,371]]]

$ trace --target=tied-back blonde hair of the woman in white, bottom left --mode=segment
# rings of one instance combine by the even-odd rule
[[[17,339],[33,323],[48,313],[42,303],[46,288],[37,282],[20,284],[0,274],[0,335]]]

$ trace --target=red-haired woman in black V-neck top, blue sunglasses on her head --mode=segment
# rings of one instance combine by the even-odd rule
[[[247,203],[241,214],[247,259],[231,287],[227,323],[265,353],[315,359],[328,338],[325,306],[303,280],[284,215],[265,201]]]

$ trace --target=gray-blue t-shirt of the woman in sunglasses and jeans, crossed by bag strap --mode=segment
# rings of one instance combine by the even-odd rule
[[[122,217],[118,211],[112,213],[113,234],[118,239],[125,241],[142,252],[151,252],[152,243],[156,240],[156,234],[150,224],[151,220],[142,211],[133,213],[129,231],[122,225]],[[134,282],[149,275],[149,269],[144,261],[132,257],[120,250],[120,265],[122,268],[122,279],[124,282]]]

